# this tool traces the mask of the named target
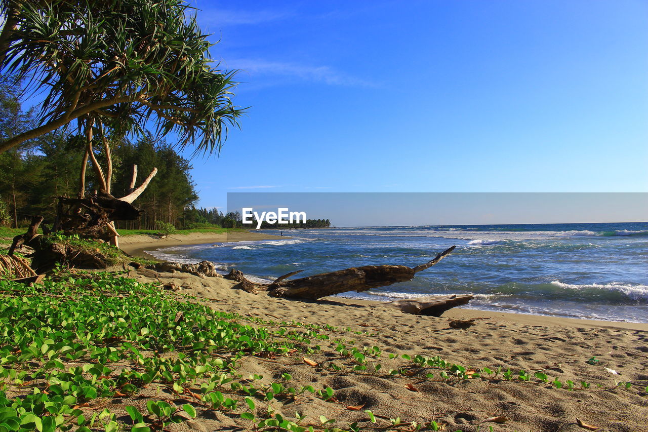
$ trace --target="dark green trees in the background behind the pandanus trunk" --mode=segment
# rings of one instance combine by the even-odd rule
[[[0,78],[0,141],[34,125],[32,111],[21,108],[21,87],[9,77]],[[135,206],[144,210],[137,221],[121,222],[117,228],[156,229],[156,221],[177,228],[197,222],[191,209],[198,200],[191,178],[191,164],[167,142],[144,133],[137,139],[111,137],[112,190],[115,197],[128,193],[133,164],[138,184],[157,167],[157,175]],[[0,224],[26,226],[32,215],[43,215],[51,224],[56,214],[55,197],[76,197],[80,191],[84,143],[76,130],[57,130],[0,154]],[[97,151],[99,163],[105,156]],[[84,189],[93,193],[97,179],[86,169]]]

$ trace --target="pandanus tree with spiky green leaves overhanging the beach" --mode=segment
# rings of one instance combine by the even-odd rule
[[[88,160],[99,191],[111,192],[108,132],[152,126],[174,132],[180,148],[211,153],[238,126],[244,110],[231,101],[234,72],[214,65],[208,35],[185,1],[1,0],[0,13],[0,71],[43,97],[37,124],[1,142],[0,152],[78,127],[86,142],[81,198]],[[132,202],[143,187],[121,199]]]

